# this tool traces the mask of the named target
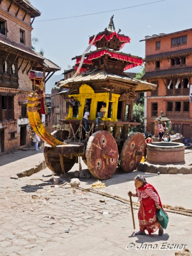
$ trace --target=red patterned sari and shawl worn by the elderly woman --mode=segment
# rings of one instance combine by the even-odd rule
[[[156,218],[156,206],[160,205],[163,208],[156,189],[146,183],[142,188],[136,188],[135,196],[138,196],[140,202],[138,212],[140,231],[147,230],[149,234],[156,232],[160,227]]]

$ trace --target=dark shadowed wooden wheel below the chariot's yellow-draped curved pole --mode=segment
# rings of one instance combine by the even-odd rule
[[[44,146],[44,157],[47,164],[47,167],[58,174],[63,173],[60,157],[62,158],[64,171],[68,172],[72,169],[73,165],[75,164],[75,158],[66,158],[65,156],[60,156],[60,154],[55,153],[55,148],[49,145]]]

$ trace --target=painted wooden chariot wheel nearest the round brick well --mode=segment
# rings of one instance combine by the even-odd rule
[[[125,172],[136,170],[144,155],[145,140],[141,133],[131,134],[120,153],[120,167]]]

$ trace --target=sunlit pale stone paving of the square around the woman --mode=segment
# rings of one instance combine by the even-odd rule
[[[26,154],[22,160],[14,156],[13,162],[10,158],[10,163],[4,161],[0,167],[0,256],[174,256],[180,251],[179,247],[164,250],[168,244],[187,244],[192,251],[191,217],[169,213],[162,237],[156,233],[136,237],[128,204],[68,186],[51,187],[48,182],[53,173],[48,168],[30,177],[10,179],[15,171],[31,168],[41,158],[42,153]],[[138,173],[116,174],[100,191],[125,198],[128,190],[134,191],[133,178]],[[163,203],[192,208],[192,174],[143,174]],[[90,187],[94,181],[83,179],[81,186]],[[136,209],[134,216],[138,230]],[[142,243],[154,249],[139,249]]]

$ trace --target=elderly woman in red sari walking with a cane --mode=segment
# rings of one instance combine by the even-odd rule
[[[129,196],[137,196],[140,202],[138,219],[139,231],[135,235],[145,235],[145,230],[149,233],[156,232],[159,229],[159,236],[163,235],[163,228],[156,218],[156,209],[163,208],[160,197],[156,189],[146,182],[142,175],[137,175],[134,179],[136,193],[128,192]]]

